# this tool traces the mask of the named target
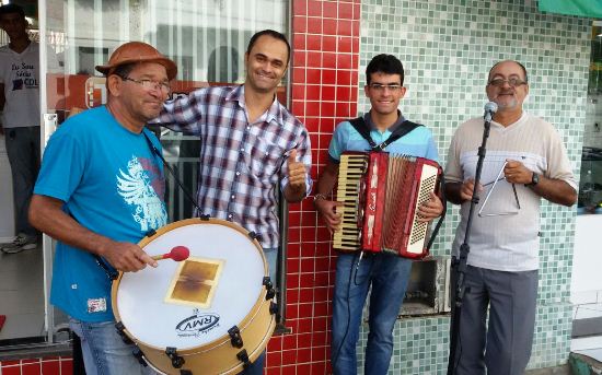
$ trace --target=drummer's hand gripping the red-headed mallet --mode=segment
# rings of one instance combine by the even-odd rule
[[[136,272],[146,268],[147,265],[157,267],[157,260],[144,253],[140,246],[131,243],[107,241],[99,249],[99,255],[118,271]]]

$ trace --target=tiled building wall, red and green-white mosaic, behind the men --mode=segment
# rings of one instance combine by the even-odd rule
[[[58,12],[50,5],[46,12]],[[555,125],[579,175],[590,20],[542,13],[535,0],[293,0],[288,7],[293,55],[287,98],[292,113],[310,131],[314,179],[327,161],[336,124],[369,108],[363,97],[364,69],[374,55],[382,52],[395,55],[404,63],[408,92],[401,108],[405,116],[432,130],[441,164],[445,163],[454,129],[465,119],[483,115],[488,69],[502,59],[521,61],[530,75],[526,110]],[[169,40],[153,42],[170,55],[161,48]],[[194,66],[194,61],[189,63]],[[194,77],[178,80],[197,81]],[[449,208],[431,250],[442,258],[449,257],[459,222],[459,210],[451,204]],[[543,204],[540,291],[530,368],[568,360],[575,218],[575,209]],[[336,254],[311,199],[289,206],[286,219],[281,291],[285,329],[268,343],[266,374],[327,374]],[[367,335],[363,326],[359,353],[363,352]],[[449,314],[403,317],[394,336],[390,374],[445,373]],[[0,374],[65,374],[70,366],[69,355],[32,355],[26,360],[2,360]],[[362,367],[362,361],[358,366]]]

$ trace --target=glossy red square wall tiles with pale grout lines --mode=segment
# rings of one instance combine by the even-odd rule
[[[357,114],[359,20],[360,0],[292,1],[291,109],[310,132],[314,181],[336,124]],[[288,236],[286,326],[292,332],[271,338],[265,373],[327,374],[335,257],[311,199],[290,206]],[[0,363],[1,375],[71,373],[69,358]]]

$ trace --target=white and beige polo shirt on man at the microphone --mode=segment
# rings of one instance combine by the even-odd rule
[[[458,128],[450,144],[445,179],[461,183],[474,178],[478,147],[483,141],[483,119],[471,119]],[[506,160],[520,161],[529,169],[566,181],[577,189],[566,149],[556,129],[543,119],[523,113],[514,124],[503,127],[491,121],[487,153],[483,163],[484,185],[496,179]],[[503,174],[502,174],[503,176]],[[516,185],[520,209],[512,185],[500,180],[489,197],[483,215],[477,215],[493,184],[481,194],[474,212],[468,265],[498,271],[529,271],[539,268],[540,196],[524,185]],[[452,253],[458,255],[464,242],[470,201],[462,203],[461,221]],[[502,214],[499,213],[510,213]]]

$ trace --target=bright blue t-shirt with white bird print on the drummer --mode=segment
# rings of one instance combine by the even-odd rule
[[[144,129],[161,150],[159,140]],[[144,134],[119,125],[106,107],[77,115],[53,134],[34,194],[65,202],[81,225],[118,242],[138,243],[167,221],[164,176]],[[111,280],[92,254],[58,243],[50,302],[76,319],[109,321]]]

